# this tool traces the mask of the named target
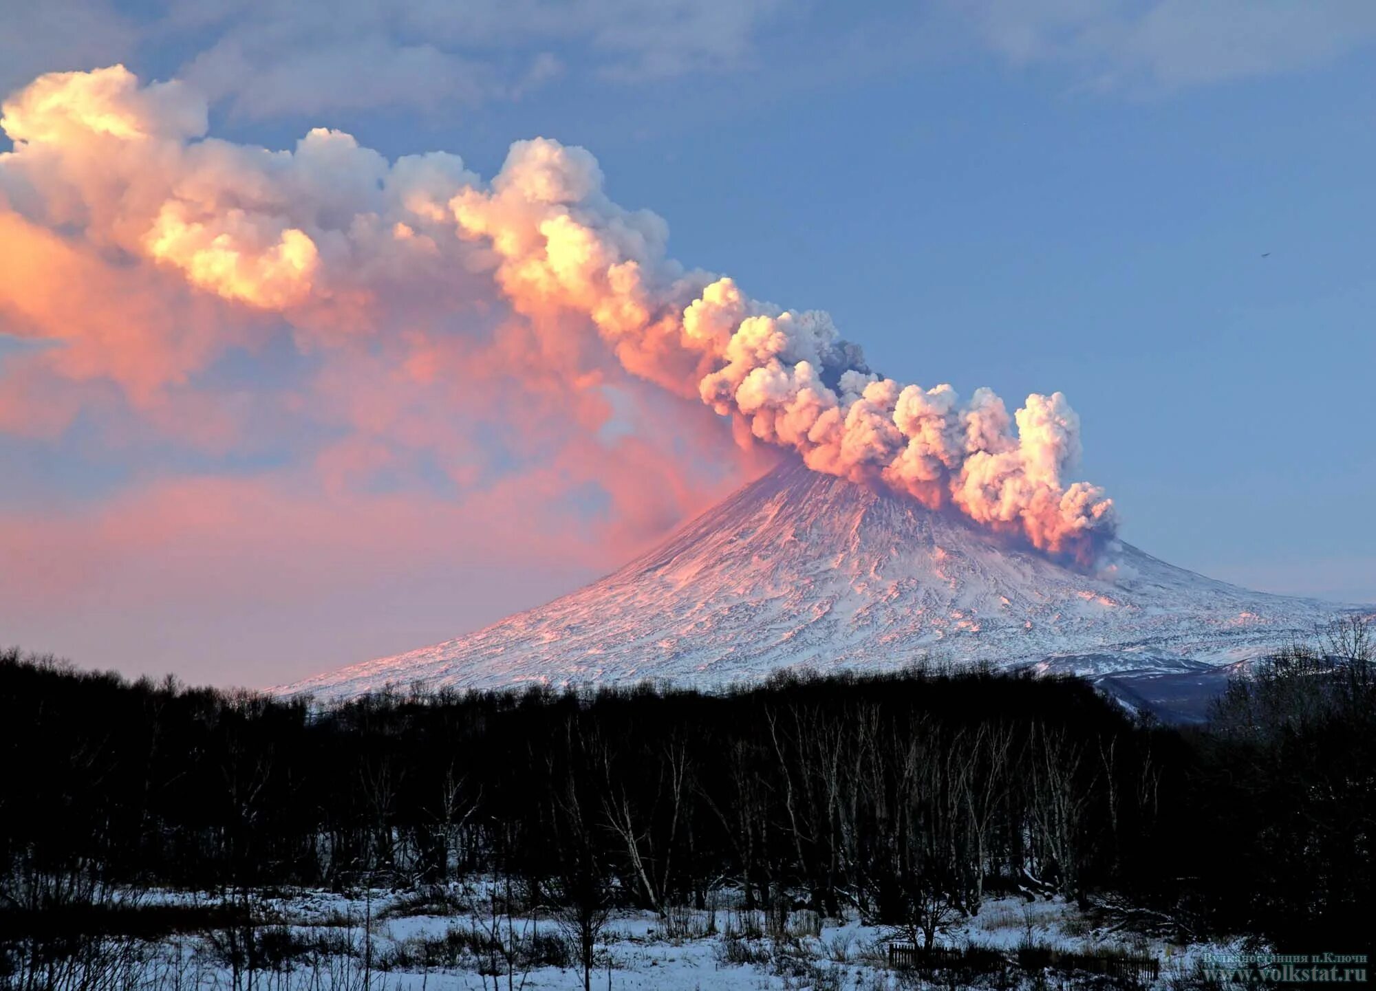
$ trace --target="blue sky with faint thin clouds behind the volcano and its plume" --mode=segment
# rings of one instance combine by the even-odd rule
[[[0,7],[21,26],[0,40],[6,89],[124,61],[198,81],[223,138],[289,147],[327,125],[388,156],[455,151],[483,176],[519,138],[583,145],[618,202],[667,220],[673,256],[828,310],[885,374],[1066,392],[1080,473],[1113,496],[1126,540],[1260,589],[1376,601],[1376,8],[605,0],[475,4],[444,28],[425,3]],[[29,347],[0,336],[0,361]],[[124,456],[94,451],[87,429],[0,435],[4,501],[125,484]],[[501,578],[464,608],[410,589],[402,619],[356,650],[460,633],[582,577]],[[110,661],[78,659],[166,669],[228,629],[228,610],[201,622],[149,606],[154,659],[135,659],[149,640],[120,646],[136,640],[127,612],[89,637],[11,615],[0,640],[111,644]],[[300,657],[337,615],[264,622]],[[352,643],[325,651],[362,659]],[[226,657],[183,670],[267,680]]]

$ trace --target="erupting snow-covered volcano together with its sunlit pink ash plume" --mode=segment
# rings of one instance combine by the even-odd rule
[[[290,414],[283,462],[314,454],[249,487],[197,479],[139,526],[204,518],[219,538],[233,527],[217,512],[268,516],[333,548],[358,527],[332,530],[316,505],[352,520],[355,505],[398,519],[403,500],[438,516],[466,501],[479,522],[453,535],[524,526],[530,507],[588,493],[608,516],[658,522],[682,509],[648,505],[647,472],[678,472],[692,491],[695,468],[711,476],[706,461],[729,458],[732,438],[784,458],[574,595],[283,691],[720,684],[923,657],[1212,672],[1335,611],[1121,544],[1113,500],[1079,475],[1080,417],[1062,392],[1015,407],[988,388],[958,394],[923,367],[922,334],[940,328],[911,334],[926,384],[881,373],[824,311],[676,260],[665,220],[616,204],[586,149],[519,140],[484,180],[453,153],[388,158],[325,128],[292,150],[227,142],[208,135],[209,111],[186,81],[143,83],[118,65],[40,76],[0,105],[12,143],[0,239],[23,262],[0,278],[0,308],[22,334],[62,343],[28,354],[22,395],[107,379],[158,429],[255,457]],[[260,403],[222,395],[217,361],[271,341],[294,352],[290,385]],[[83,409],[56,407],[33,429]],[[250,436],[252,409],[271,439]],[[695,454],[680,450],[689,439]],[[257,511],[294,507],[300,491],[319,494],[308,512]],[[519,508],[487,505],[512,493]],[[380,494],[394,501],[374,511]],[[422,524],[420,541],[432,533]]]

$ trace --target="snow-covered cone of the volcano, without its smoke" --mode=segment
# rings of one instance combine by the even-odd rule
[[[1083,574],[955,515],[786,464],[619,571],[433,647],[275,691],[722,684],[922,657],[1192,672],[1313,636],[1342,607],[1249,592],[1123,544]]]

